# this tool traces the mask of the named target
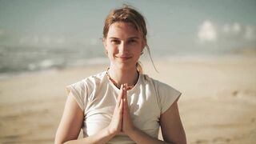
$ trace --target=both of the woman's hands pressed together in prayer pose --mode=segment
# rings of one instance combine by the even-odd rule
[[[130,118],[130,110],[127,101],[127,84],[121,85],[118,102],[114,108],[114,114],[108,126],[110,134],[116,135],[120,132],[127,135],[135,129]]]

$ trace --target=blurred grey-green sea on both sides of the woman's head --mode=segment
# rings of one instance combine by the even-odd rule
[[[202,58],[221,54],[230,54],[230,51],[193,50],[192,52],[191,50],[178,49],[151,49],[153,60],[158,58]],[[143,59],[150,61],[147,51],[144,52]],[[102,46],[0,46],[1,78],[28,72],[61,70],[70,66],[106,63],[109,63],[109,60],[104,54]]]

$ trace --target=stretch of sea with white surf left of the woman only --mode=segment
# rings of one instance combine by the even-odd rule
[[[102,48],[0,46],[0,74],[20,74],[108,62]]]

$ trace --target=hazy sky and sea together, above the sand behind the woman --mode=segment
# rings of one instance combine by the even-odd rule
[[[106,62],[106,14],[128,4],[146,18],[154,58],[251,53],[256,2],[0,1],[0,73]]]

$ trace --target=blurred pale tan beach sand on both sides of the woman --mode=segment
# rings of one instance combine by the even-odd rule
[[[182,91],[187,142],[256,142],[256,57],[166,58],[142,62],[145,74]],[[0,80],[0,143],[53,143],[66,102],[65,86],[106,70],[80,66]]]

